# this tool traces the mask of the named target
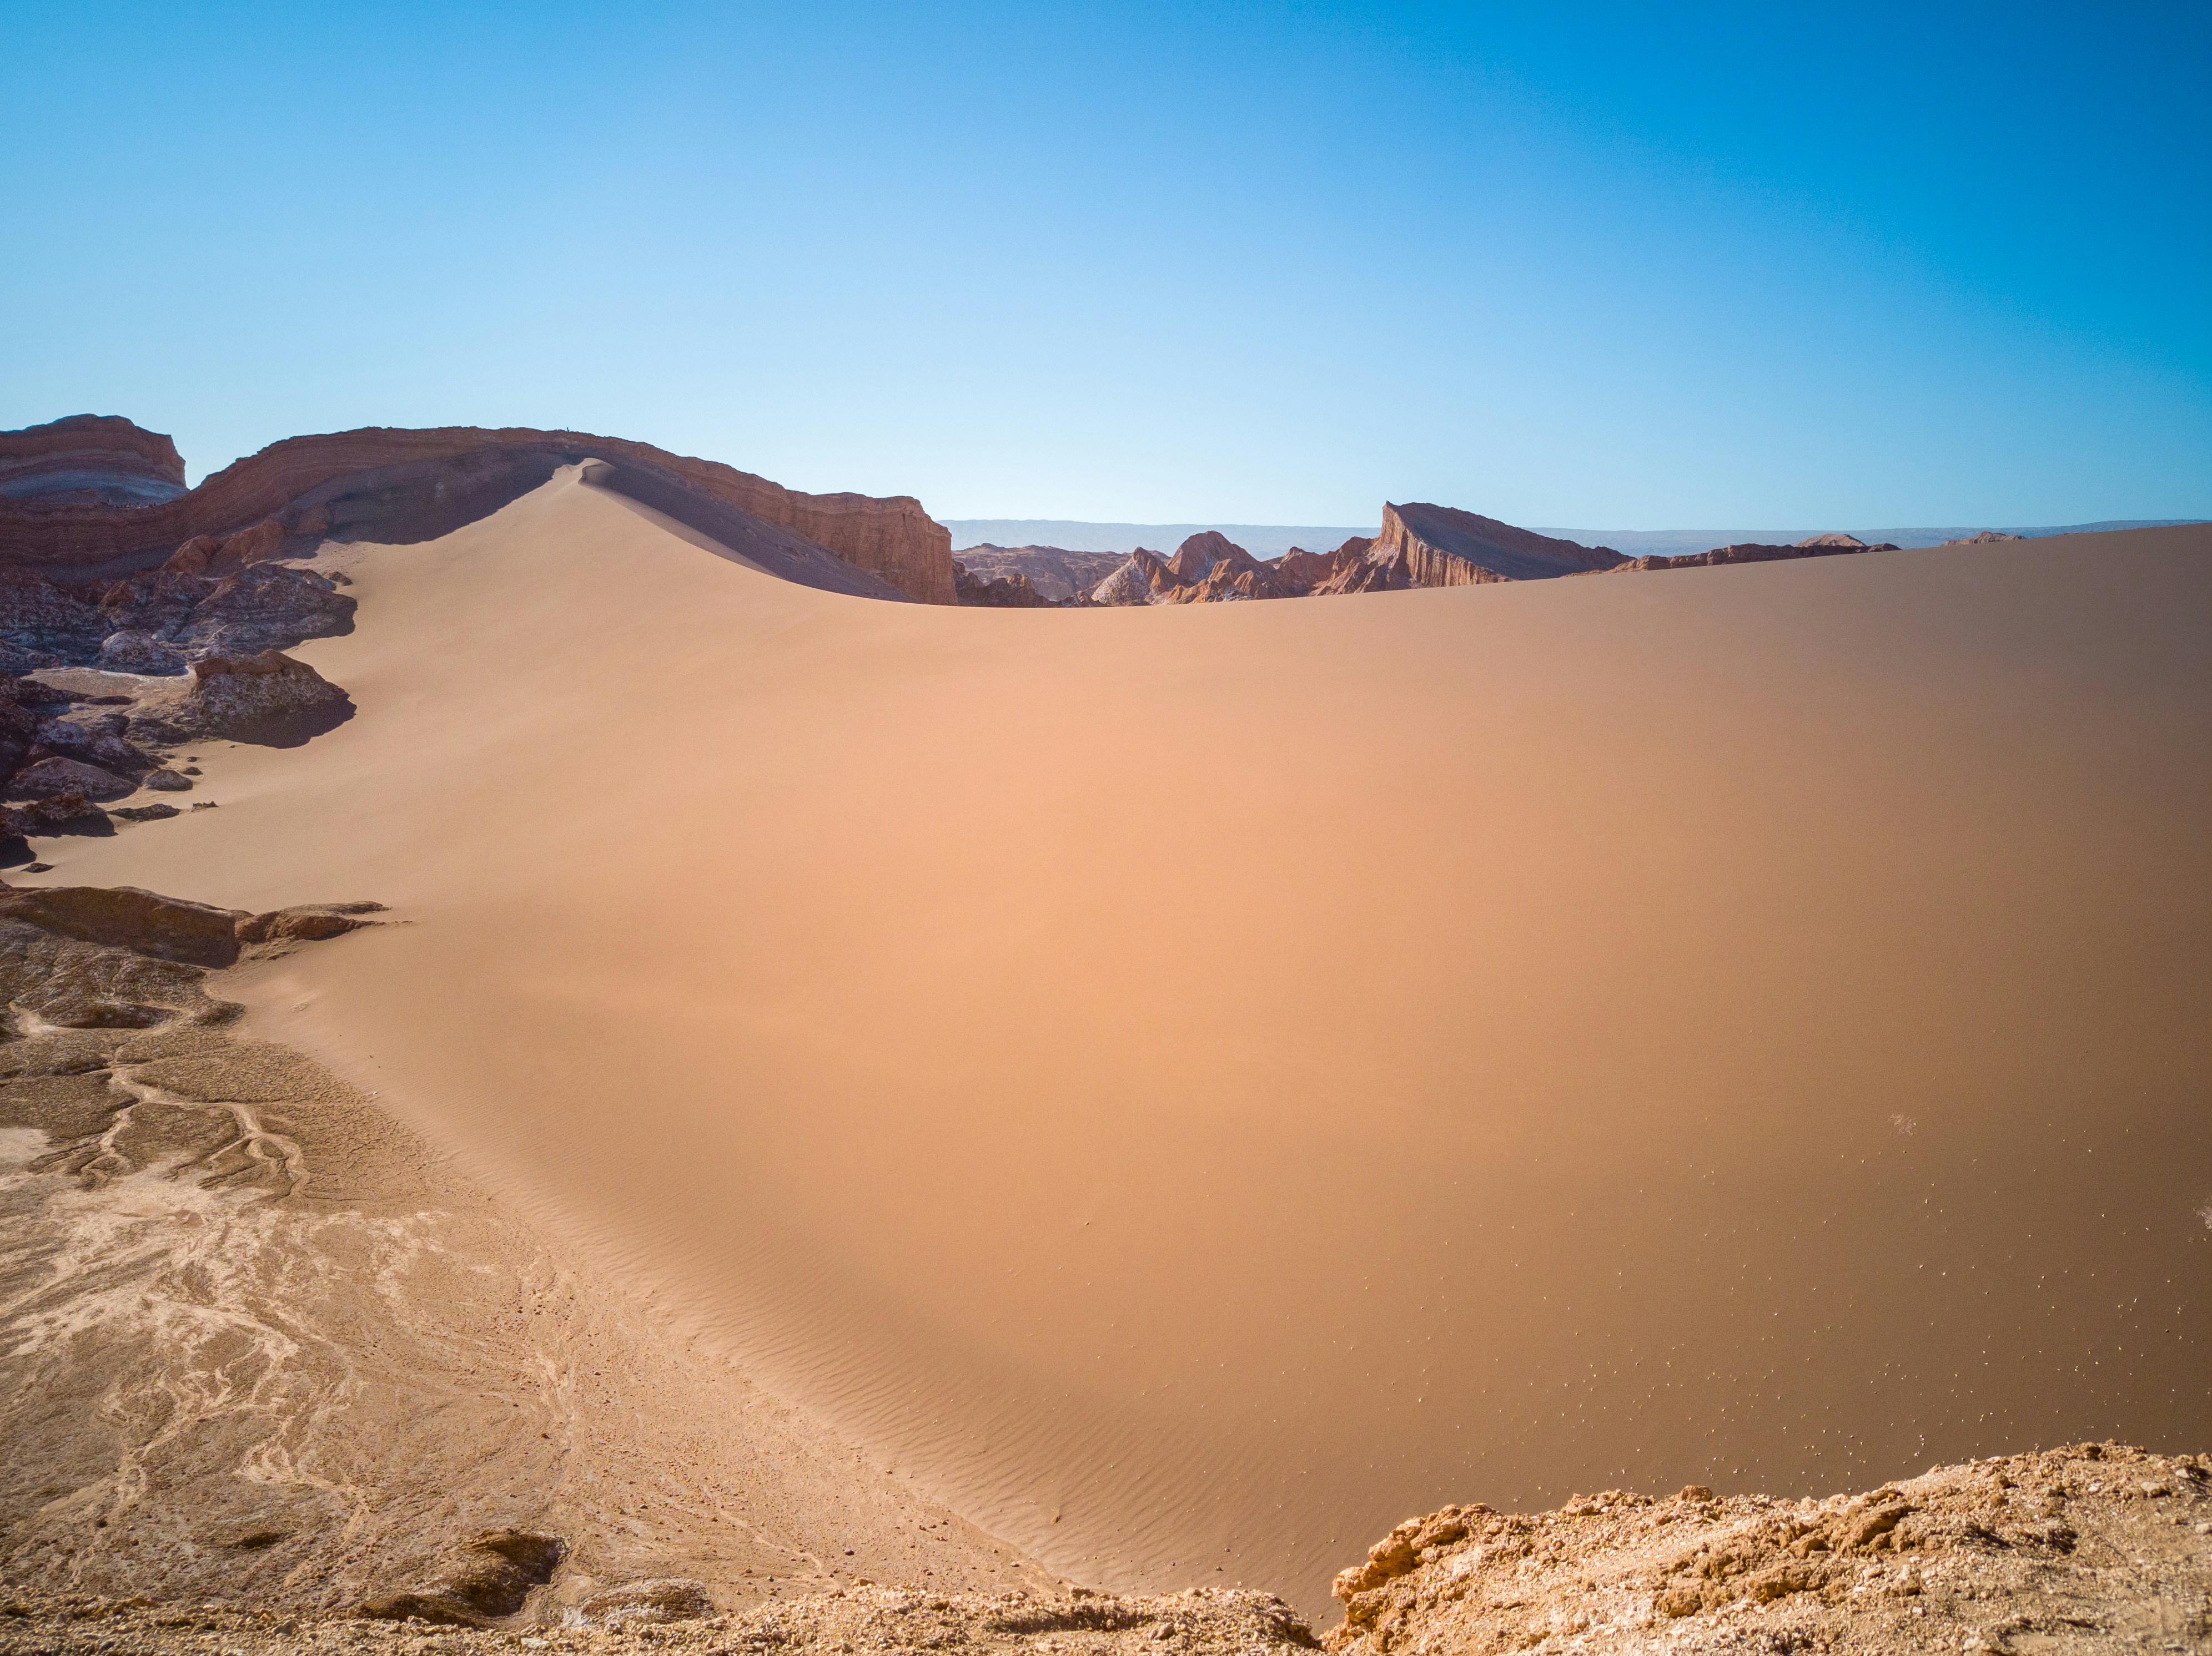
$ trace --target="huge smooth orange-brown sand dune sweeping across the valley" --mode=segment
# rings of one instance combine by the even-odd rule
[[[692,539],[349,553],[358,716],[46,878],[394,904],[226,993],[1099,1585],[2201,1446],[2212,531],[1135,612]]]

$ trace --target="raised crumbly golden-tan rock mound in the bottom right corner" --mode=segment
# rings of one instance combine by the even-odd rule
[[[1531,1517],[1451,1506],[1407,1519],[1336,1579],[1345,1623],[1325,1643],[1340,1656],[1546,1638],[1644,1652],[1686,1649],[1705,1627],[1730,1649],[2150,1649],[2212,1592],[2208,1532],[2212,1461],[2112,1444],[1825,1501],[1686,1488]],[[2086,1629],[2101,1638],[2077,1645]]]

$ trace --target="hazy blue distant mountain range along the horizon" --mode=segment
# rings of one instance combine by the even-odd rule
[[[1292,546],[1310,553],[1327,553],[1343,546],[1354,535],[1374,535],[1374,524],[1091,524],[1066,517],[945,517],[940,520],[953,535],[953,548],[991,542],[995,546],[1060,546],[1077,553],[1117,553],[1128,557],[1139,546],[1179,546],[1192,535],[1219,531],[1243,546],[1254,557],[1281,557]],[[2101,524],[1958,524],[1949,528],[1847,528],[1863,542],[1891,542],[1896,546],[1942,546],[1947,539],[1966,539],[1984,528],[2000,528],[2008,535],[2093,535],[2108,528],[2166,528],[2170,524],[2197,524],[2201,517],[2124,517]],[[1794,544],[1812,535],[1829,533],[1836,524],[1803,528],[1537,528],[1540,535],[1571,539],[1582,546],[1610,546],[1630,557],[1681,557],[1683,553],[1705,553],[1714,546],[1736,546],[1743,542]]]

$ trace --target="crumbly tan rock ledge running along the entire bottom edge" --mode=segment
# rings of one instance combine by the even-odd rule
[[[2212,1652],[2212,1457],[2079,1444],[1825,1501],[1606,1492],[1409,1519],[1338,1576],[1314,1638],[1279,1599],[854,1585],[714,1614],[639,1581],[507,1625],[0,1594],[18,1652]]]

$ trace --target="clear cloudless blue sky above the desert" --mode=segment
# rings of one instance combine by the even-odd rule
[[[2212,515],[2212,7],[0,0],[0,427],[940,517]]]

